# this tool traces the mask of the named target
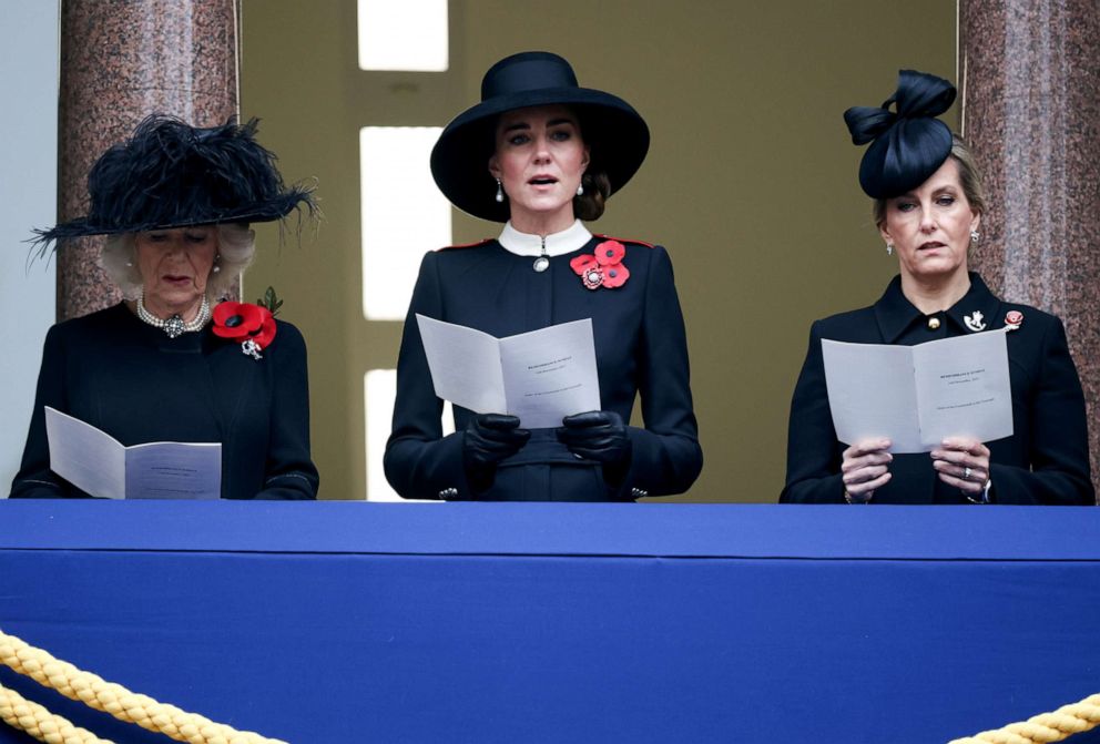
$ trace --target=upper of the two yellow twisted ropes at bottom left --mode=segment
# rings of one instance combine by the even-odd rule
[[[10,666],[20,674],[26,674],[39,684],[57,690],[65,697],[78,700],[96,711],[110,713],[120,721],[135,723],[142,728],[162,733],[177,742],[187,742],[189,744],[287,744],[277,738],[266,738],[251,731],[236,731],[225,724],[214,723],[196,713],[187,713],[174,705],[159,703],[146,695],[134,694],[122,685],[106,682],[91,672],[80,671],[69,662],[54,659],[48,652],[28,645],[2,630],[0,630],[0,664]],[[57,738],[54,741],[69,744],[69,740]],[[73,744],[81,741],[72,740]]]

